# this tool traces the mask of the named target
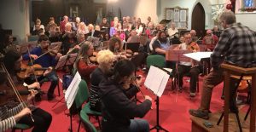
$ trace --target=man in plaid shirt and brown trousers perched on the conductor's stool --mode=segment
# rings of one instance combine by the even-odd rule
[[[208,119],[212,89],[224,81],[221,63],[235,66],[252,67],[256,60],[256,37],[247,26],[236,23],[236,16],[231,11],[224,11],[219,21],[224,27],[219,41],[211,55],[212,72],[205,77],[201,93],[201,106],[197,110],[189,110],[195,117]],[[238,112],[236,106],[236,85],[238,80],[230,78],[230,112]]]

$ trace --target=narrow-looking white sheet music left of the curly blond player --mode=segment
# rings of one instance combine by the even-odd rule
[[[69,109],[73,105],[73,100],[75,99],[78,90],[79,90],[79,83],[81,82],[81,76],[79,72],[76,73],[76,75],[73,77],[72,82],[67,88],[67,91],[65,92],[65,100],[67,103],[67,109]]]

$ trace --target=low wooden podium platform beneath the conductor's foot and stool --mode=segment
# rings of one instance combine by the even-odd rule
[[[196,118],[194,116],[191,116],[191,121],[192,121],[192,128],[191,128],[191,131],[192,132],[222,132],[224,130],[224,123],[223,121],[221,123],[219,123],[219,125],[217,125],[217,122],[218,122],[218,118],[220,117],[221,115],[221,112],[217,112],[217,113],[211,113],[210,114],[210,118],[209,120],[205,120],[205,119],[202,119],[202,118]],[[245,113],[241,113],[239,114],[239,117],[240,118],[244,118],[245,116]],[[237,125],[237,122],[236,122],[236,115],[235,113],[230,113],[230,127],[229,127],[229,131],[230,132],[239,132],[239,128],[238,128],[238,125]],[[206,126],[204,126],[204,122],[205,121],[208,121],[210,123],[213,124],[213,127],[212,128],[207,128]],[[249,132],[249,127],[250,127],[250,124],[249,124],[249,118],[247,118],[247,121],[243,121],[241,120],[241,127],[242,127],[242,131],[243,132]]]

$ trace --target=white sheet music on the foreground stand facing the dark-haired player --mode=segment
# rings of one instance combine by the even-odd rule
[[[151,89],[154,95],[160,97],[166,89],[168,79],[169,75],[166,72],[155,66],[150,66],[144,85]]]

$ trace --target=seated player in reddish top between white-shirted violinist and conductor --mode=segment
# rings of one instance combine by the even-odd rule
[[[207,50],[212,51],[218,43],[218,37],[212,34],[211,30],[207,30],[207,35],[203,37],[202,44],[207,45]]]

